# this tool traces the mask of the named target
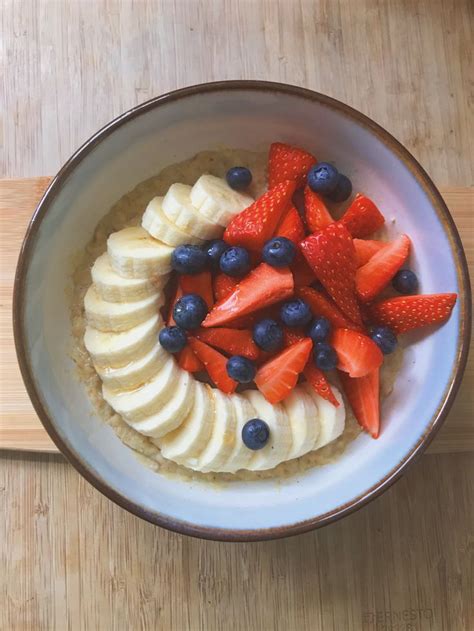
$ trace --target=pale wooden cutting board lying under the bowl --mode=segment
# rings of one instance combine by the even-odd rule
[[[23,235],[48,177],[0,180],[0,449],[57,451],[43,429],[23,386],[16,361],[11,302],[16,261]],[[474,189],[443,188],[474,270]],[[474,354],[457,400],[430,453],[474,451]]]

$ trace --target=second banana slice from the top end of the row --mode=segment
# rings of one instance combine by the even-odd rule
[[[222,235],[222,228],[209,221],[191,204],[191,187],[186,184],[173,184],[163,198],[162,209],[166,217],[180,230],[201,239],[216,239]]]

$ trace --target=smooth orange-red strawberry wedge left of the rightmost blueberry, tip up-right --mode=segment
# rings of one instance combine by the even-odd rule
[[[384,289],[410,252],[410,239],[402,234],[356,272],[356,290],[363,302],[370,302]]]

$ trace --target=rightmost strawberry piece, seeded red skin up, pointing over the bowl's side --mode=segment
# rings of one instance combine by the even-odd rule
[[[370,313],[374,322],[400,334],[444,322],[451,315],[456,299],[457,294],[398,296],[372,305]]]

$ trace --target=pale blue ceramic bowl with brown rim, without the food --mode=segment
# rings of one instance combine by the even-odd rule
[[[413,242],[423,293],[455,292],[442,326],[410,344],[383,401],[377,440],[360,433],[336,458],[288,476],[210,483],[144,464],[103,422],[72,359],[77,257],[108,210],[141,182],[202,151],[308,148],[383,209],[388,236]],[[23,379],[59,450],[99,491],[156,525],[207,539],[285,537],[326,524],[386,490],[427,447],[459,388],[470,336],[466,260],[441,195],[379,125],[327,96],[283,84],[226,81],[152,99],[106,125],[63,166],[29,225],[17,267],[14,332]]]

